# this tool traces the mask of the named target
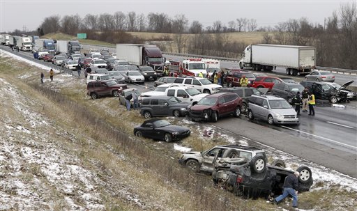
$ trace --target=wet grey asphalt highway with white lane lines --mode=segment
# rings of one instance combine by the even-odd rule
[[[1,48],[9,50],[8,47],[1,46]],[[15,54],[32,58],[29,52]],[[221,64],[222,68],[236,66],[234,63]],[[347,79],[356,77],[344,76]],[[337,77],[342,79],[336,76],[336,80]],[[137,87],[142,92],[151,91],[153,81]],[[264,121],[250,121],[246,116],[223,118],[218,120],[218,123],[200,124],[215,125],[222,130],[246,136],[259,143],[357,178],[357,101],[345,103],[344,106],[344,108],[316,107],[315,116],[307,116],[306,112],[301,112],[301,124],[296,126],[272,126]]]

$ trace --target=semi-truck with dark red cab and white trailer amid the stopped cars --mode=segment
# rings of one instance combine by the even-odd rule
[[[156,45],[116,44],[116,58],[137,66],[151,66],[158,75],[163,75],[165,58]]]

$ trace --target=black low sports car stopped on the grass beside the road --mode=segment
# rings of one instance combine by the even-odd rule
[[[154,140],[170,142],[190,136],[191,132],[188,127],[171,125],[167,120],[152,118],[144,121],[139,127],[135,127],[134,134],[138,137],[144,136]]]

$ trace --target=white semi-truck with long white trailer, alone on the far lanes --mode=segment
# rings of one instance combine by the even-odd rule
[[[248,45],[239,66],[253,70],[271,71],[286,68],[287,75],[306,75],[316,66],[316,49],[298,45]]]

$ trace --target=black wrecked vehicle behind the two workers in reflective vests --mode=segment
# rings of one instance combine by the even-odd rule
[[[340,91],[326,84],[326,82],[318,81],[301,81],[300,84],[307,87],[311,93],[315,95],[316,99],[328,100],[336,103],[340,100]]]

